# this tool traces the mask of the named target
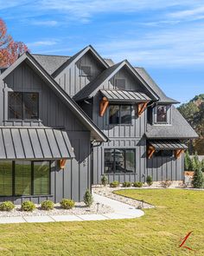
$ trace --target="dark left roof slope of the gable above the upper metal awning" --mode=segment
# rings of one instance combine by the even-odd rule
[[[92,95],[92,93],[96,89],[98,89],[103,82],[105,82],[105,79],[109,77],[109,75],[112,75],[112,72],[114,70],[118,69],[121,63],[122,62],[119,62],[118,64],[115,64],[112,67],[110,67],[109,69],[105,69],[104,72],[102,72],[99,76],[97,76],[91,82],[86,84],[86,86],[83,89],[81,89],[76,95],[74,95],[73,100],[80,101],[90,97],[90,95]]]

